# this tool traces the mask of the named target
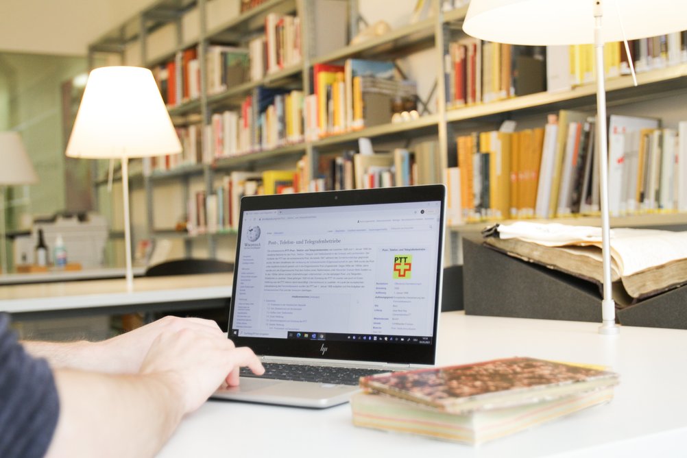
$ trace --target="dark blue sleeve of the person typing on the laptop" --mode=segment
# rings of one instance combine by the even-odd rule
[[[0,457],[43,457],[57,425],[59,399],[52,370],[16,340],[0,313]]]

